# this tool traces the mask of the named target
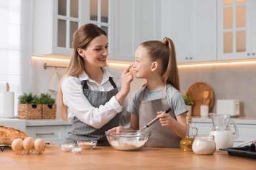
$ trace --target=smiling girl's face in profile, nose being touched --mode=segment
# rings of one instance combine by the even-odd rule
[[[136,78],[147,78],[152,70],[152,61],[148,58],[148,51],[143,46],[139,46],[135,52],[135,62],[133,63]]]

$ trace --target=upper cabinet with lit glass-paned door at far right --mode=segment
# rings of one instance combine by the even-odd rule
[[[256,1],[218,1],[218,59],[256,58]]]

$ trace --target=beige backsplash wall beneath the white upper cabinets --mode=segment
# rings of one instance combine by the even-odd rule
[[[33,59],[33,93],[51,93],[47,89],[49,80],[54,73],[54,68],[43,68],[47,65],[68,65],[65,61],[47,61],[42,59]],[[125,67],[116,67],[123,71]],[[60,69],[63,70],[63,69]],[[133,72],[133,69],[131,69]],[[229,65],[229,66],[200,66],[200,67],[182,67],[179,68],[181,80],[181,93],[195,82],[205,82],[209,84],[215,93],[215,105],[212,112],[216,112],[217,99],[239,99],[240,114],[242,117],[255,117],[255,98],[256,98],[256,64],[247,65]],[[132,82],[131,93],[139,88],[144,82],[137,79]],[[58,117],[58,116],[57,116]]]

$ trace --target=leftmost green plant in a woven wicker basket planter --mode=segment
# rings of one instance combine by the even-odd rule
[[[41,119],[42,105],[39,97],[30,93],[24,93],[18,97],[18,118],[21,119]]]

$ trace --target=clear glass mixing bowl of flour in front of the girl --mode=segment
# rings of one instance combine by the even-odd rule
[[[116,150],[139,150],[142,148],[148,138],[150,132],[137,133],[136,130],[124,130],[121,133],[105,132],[108,143]]]

